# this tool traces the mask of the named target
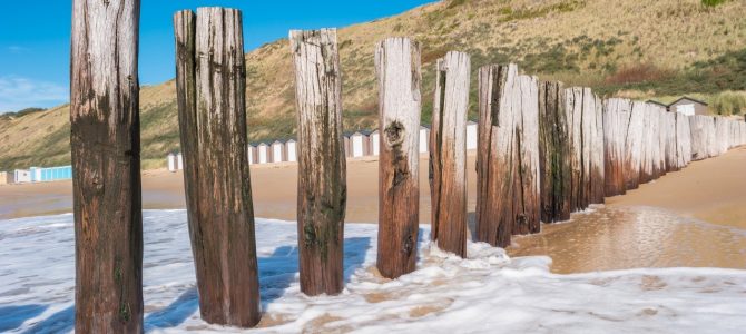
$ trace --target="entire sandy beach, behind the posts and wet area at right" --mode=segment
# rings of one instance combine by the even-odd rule
[[[430,220],[426,157],[420,165],[420,222]],[[474,208],[474,155],[469,156],[469,209]],[[580,273],[634,267],[746,268],[746,147],[669,173],[605,206],[573,214],[571,222],[543,225],[516,237],[513,256],[548,255],[552,272]],[[252,166],[257,217],[295,219],[294,164]],[[148,170],[145,208],[183,208],[181,173]],[[0,186],[0,219],[71,210],[71,183]],[[377,219],[377,160],[347,163],[346,222]]]

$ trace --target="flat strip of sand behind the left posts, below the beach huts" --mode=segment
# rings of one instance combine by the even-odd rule
[[[469,155],[469,208],[475,206],[474,155]],[[252,196],[257,217],[295,220],[297,165],[252,165]],[[0,186],[0,219],[69,213],[71,181]],[[379,161],[376,158],[347,161],[347,212],[345,222],[375,223],[379,216]],[[143,173],[143,207],[184,208],[184,175],[165,169]],[[430,222],[428,157],[420,159],[420,223]]]

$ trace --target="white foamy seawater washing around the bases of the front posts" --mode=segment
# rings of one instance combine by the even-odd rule
[[[184,210],[144,214],[148,332],[241,332],[199,320]],[[509,258],[470,243],[461,259],[420,229],[418,269],[379,277],[376,226],[345,225],[347,281],[338,296],[300,293],[294,223],[257,219],[266,333],[743,333],[746,271],[641,268],[576,275],[542,256]],[[0,222],[0,332],[73,328],[72,216]]]

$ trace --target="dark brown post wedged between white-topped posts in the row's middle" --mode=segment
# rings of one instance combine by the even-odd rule
[[[566,90],[560,82],[539,84],[541,222],[570,219],[570,143]]]

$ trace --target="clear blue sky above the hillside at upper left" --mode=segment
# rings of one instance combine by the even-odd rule
[[[238,8],[246,50],[289,29],[345,27],[434,0],[141,0],[140,84],[174,77],[171,16],[205,6]],[[71,1],[3,1],[0,17],[0,112],[68,100]]]

